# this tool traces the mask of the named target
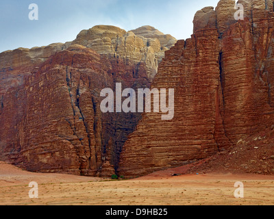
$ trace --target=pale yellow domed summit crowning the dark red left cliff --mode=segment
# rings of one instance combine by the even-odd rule
[[[135,64],[144,62],[150,80],[157,73],[164,51],[173,47],[175,42],[177,40],[171,35],[164,35],[150,26],[126,32],[119,27],[105,25],[83,30],[73,41],[108,57],[119,57],[125,62],[131,60]]]

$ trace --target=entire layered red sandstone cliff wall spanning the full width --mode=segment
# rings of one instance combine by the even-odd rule
[[[244,20],[221,0],[199,10],[191,38],[174,47],[153,27],[100,25],[66,44],[1,53],[0,159],[40,172],[140,176],[273,129],[273,1],[238,3]],[[173,120],[103,114],[100,91],[118,82],[174,88]]]

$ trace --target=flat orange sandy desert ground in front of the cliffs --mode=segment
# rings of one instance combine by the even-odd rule
[[[179,168],[124,181],[26,172],[0,162],[0,205],[273,205],[274,177],[263,175],[181,175]],[[29,182],[38,198],[29,198]],[[235,198],[242,181],[245,197]]]

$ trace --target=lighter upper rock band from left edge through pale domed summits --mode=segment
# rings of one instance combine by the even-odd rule
[[[138,31],[139,29],[142,31]],[[144,37],[146,30],[147,36]],[[136,66],[144,62],[151,81],[157,73],[158,64],[164,57],[164,51],[174,46],[175,42],[177,40],[172,36],[164,35],[150,26],[126,32],[119,27],[98,25],[81,31],[73,42],[5,51],[0,53],[0,97],[3,98],[3,94],[9,88],[21,85],[23,77],[29,75],[34,68],[38,68],[51,55],[67,49],[71,44],[83,45],[109,58],[120,58],[125,63],[134,62]]]

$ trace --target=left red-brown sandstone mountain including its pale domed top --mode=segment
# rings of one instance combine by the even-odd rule
[[[96,26],[73,42],[1,53],[0,158],[31,171],[114,175],[141,114],[103,114],[100,92],[149,88],[166,51],[158,41]]]

